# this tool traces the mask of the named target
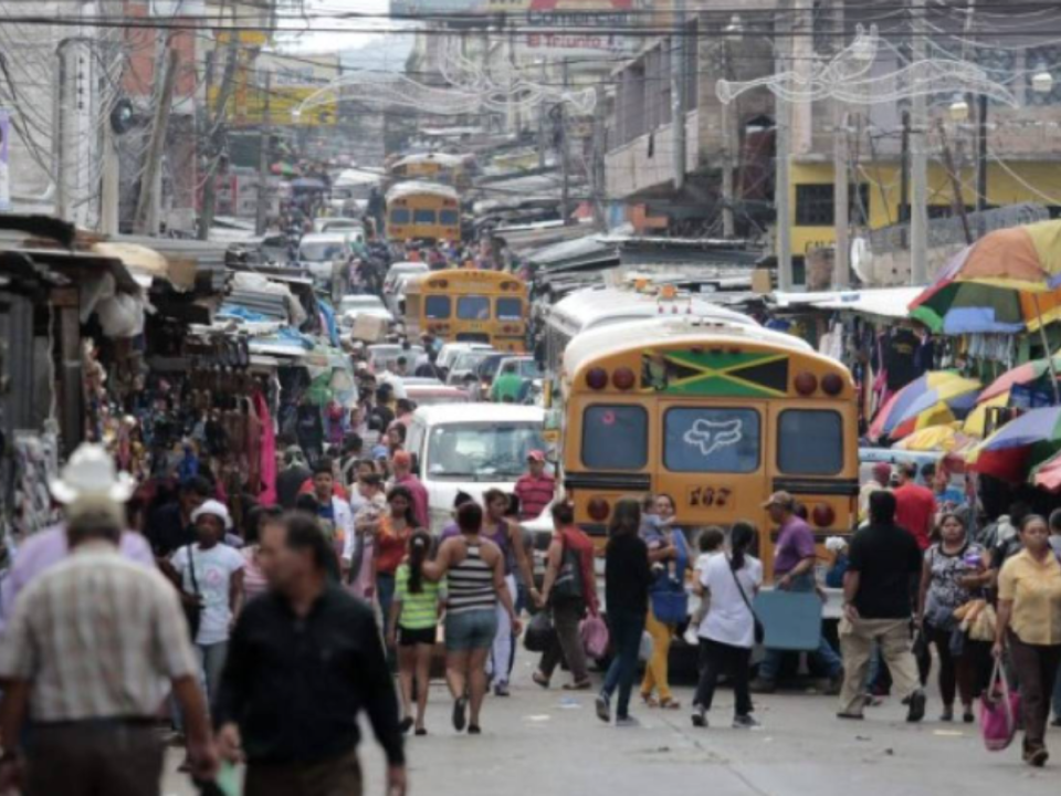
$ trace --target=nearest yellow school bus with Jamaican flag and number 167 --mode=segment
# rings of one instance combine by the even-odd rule
[[[769,574],[770,493],[806,506],[819,543],[853,528],[854,385],[796,337],[695,318],[586,332],[567,347],[560,390],[563,482],[591,534],[606,534],[620,498],[666,493],[683,528],[755,523]]]

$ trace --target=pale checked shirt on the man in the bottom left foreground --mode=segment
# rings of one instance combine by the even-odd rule
[[[0,645],[0,678],[31,683],[38,722],[154,716],[166,680],[196,672],[172,584],[105,542],[34,579]]]

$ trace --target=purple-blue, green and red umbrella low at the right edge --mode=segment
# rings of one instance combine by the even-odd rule
[[[977,472],[1005,481],[1023,479],[1029,465],[1061,448],[1061,407],[1030,409],[974,448],[967,458]]]

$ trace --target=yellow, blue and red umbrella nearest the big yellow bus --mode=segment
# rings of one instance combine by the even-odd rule
[[[953,420],[950,409],[969,409],[980,383],[952,370],[932,370],[889,398],[870,426],[870,439],[899,439],[938,422]],[[922,416],[928,416],[918,421]],[[931,422],[928,419],[931,418]]]

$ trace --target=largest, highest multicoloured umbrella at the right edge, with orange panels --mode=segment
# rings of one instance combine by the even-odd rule
[[[958,252],[910,304],[933,332],[1036,331],[1061,311],[1061,221],[996,230]]]

